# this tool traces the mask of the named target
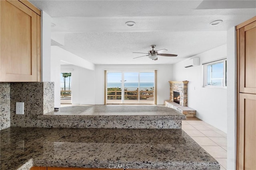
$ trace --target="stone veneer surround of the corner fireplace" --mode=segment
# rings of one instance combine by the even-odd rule
[[[180,105],[188,106],[188,81],[169,81],[170,101],[173,102],[173,92],[180,93]]]

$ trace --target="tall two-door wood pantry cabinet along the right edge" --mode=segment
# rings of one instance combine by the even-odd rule
[[[238,67],[237,166],[256,169],[256,17],[236,27]]]

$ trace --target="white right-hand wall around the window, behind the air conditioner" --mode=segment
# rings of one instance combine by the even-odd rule
[[[196,109],[196,117],[227,132],[227,89],[207,88],[203,85],[202,63],[227,57],[226,45],[216,47],[194,57],[200,66],[184,68],[186,61],[173,65],[173,80],[188,80],[188,107]]]

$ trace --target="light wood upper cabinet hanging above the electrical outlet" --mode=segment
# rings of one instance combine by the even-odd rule
[[[0,1],[0,82],[40,81],[40,29],[30,2]]]

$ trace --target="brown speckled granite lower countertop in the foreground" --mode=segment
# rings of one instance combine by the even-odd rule
[[[220,169],[182,129],[18,128],[0,131],[1,170],[32,166]]]

